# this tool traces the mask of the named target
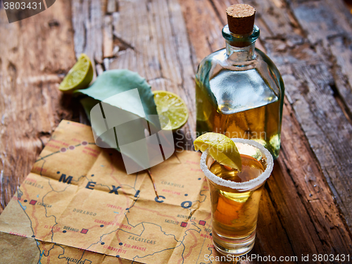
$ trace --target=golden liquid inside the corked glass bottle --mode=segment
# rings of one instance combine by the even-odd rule
[[[197,132],[216,132],[230,138],[252,139],[265,146],[277,158],[280,148],[279,101],[227,114],[227,104],[230,103],[225,101],[216,109],[198,84],[196,95]]]

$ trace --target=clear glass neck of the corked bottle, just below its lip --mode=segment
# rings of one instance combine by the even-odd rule
[[[256,42],[249,44],[249,46],[233,46],[233,43],[226,41],[226,55],[230,61],[252,61],[256,58],[254,51]]]

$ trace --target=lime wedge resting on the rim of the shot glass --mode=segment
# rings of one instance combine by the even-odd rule
[[[201,152],[209,149],[209,154],[218,163],[235,168],[239,171],[242,169],[241,156],[234,142],[225,136],[225,134],[206,133],[194,140],[194,148]]]

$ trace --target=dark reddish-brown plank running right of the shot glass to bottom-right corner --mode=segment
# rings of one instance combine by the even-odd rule
[[[275,207],[279,213],[282,213],[285,206],[288,210],[296,210],[291,207],[301,210],[298,213],[290,213],[289,215],[293,217],[291,219],[282,218],[282,221],[287,223],[284,224],[285,230],[298,236],[291,240],[296,256],[304,254],[305,251],[310,254],[320,252],[328,254],[332,251],[348,254],[352,251],[351,233],[334,204],[329,185],[294,115],[293,108],[286,101],[282,127],[282,153],[278,159],[280,169],[274,172],[272,178],[279,183],[277,189],[284,194],[286,201],[280,201],[279,196],[274,198],[277,189],[273,189]],[[282,180],[287,183],[284,184]],[[268,183],[271,189],[272,184]],[[296,192],[292,192],[294,189]],[[300,230],[297,227],[298,222],[304,223],[305,227],[301,228],[304,232],[296,232]],[[302,244],[303,238],[307,241],[313,239],[315,249],[310,243]]]

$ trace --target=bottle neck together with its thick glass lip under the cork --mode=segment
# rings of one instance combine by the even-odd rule
[[[233,62],[252,61],[256,58],[255,44],[260,34],[259,28],[254,25],[253,32],[247,35],[232,34],[229,26],[222,29],[222,36],[226,40],[227,59]]]

